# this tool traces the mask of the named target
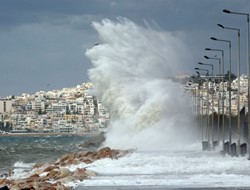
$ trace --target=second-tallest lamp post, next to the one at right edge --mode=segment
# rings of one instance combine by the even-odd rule
[[[238,33],[238,67],[237,67],[237,75],[238,75],[238,91],[237,91],[237,115],[238,115],[238,122],[237,122],[237,129],[238,129],[238,146],[240,147],[240,29],[232,28],[232,27],[225,27],[222,24],[217,24],[219,27],[228,30],[234,30]]]

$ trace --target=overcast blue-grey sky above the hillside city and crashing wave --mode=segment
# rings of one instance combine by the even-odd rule
[[[190,47],[189,74],[205,60],[206,47],[228,46],[211,36],[232,41],[232,72],[236,73],[237,33],[241,29],[241,72],[246,73],[246,17],[222,12],[250,12],[249,0],[0,0],[0,97],[72,87],[87,82],[90,61],[84,53],[99,42],[93,21],[125,17],[143,27],[181,33]],[[181,52],[180,52],[181,53]],[[218,54],[219,57],[219,54]],[[227,63],[225,63],[225,70]]]

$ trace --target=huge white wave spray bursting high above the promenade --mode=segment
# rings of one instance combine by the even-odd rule
[[[86,56],[95,93],[111,114],[106,145],[158,149],[193,138],[191,109],[169,77],[185,69],[188,50],[178,34],[125,18],[94,22],[101,43]]]

